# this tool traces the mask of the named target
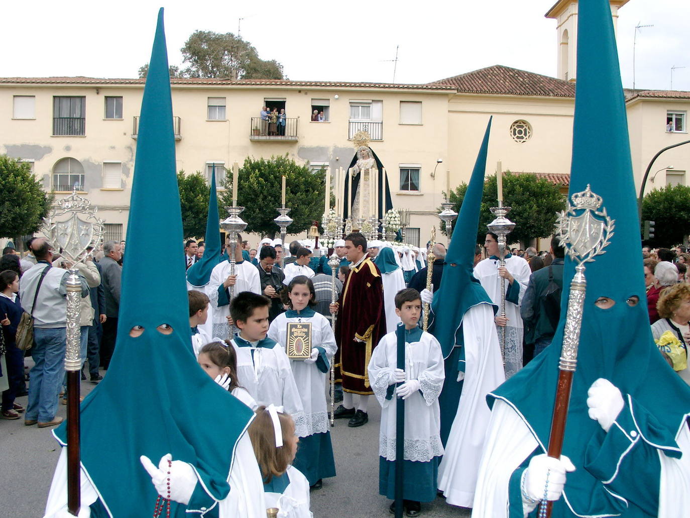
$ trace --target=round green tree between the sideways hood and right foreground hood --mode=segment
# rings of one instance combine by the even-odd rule
[[[456,212],[460,212],[466,191],[465,183],[451,191],[451,203]],[[486,225],[495,218],[489,209],[496,207],[497,195],[496,177],[493,175],[484,182],[477,243],[484,242],[488,232]],[[553,234],[557,213],[565,209],[565,197],[558,186],[548,180],[528,173],[513,174],[508,171],[503,177],[503,204],[512,207],[507,217],[515,223],[515,230],[508,237],[509,242],[527,244],[534,238],[546,238]],[[445,224],[441,227],[445,231]]]

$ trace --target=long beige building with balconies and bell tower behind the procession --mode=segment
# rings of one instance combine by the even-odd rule
[[[611,1],[614,20],[626,1]],[[213,164],[218,171],[248,156],[286,153],[314,169],[346,168],[353,135],[366,130],[393,206],[411,211],[406,240],[424,244],[439,222],[446,185],[469,179],[493,116],[487,175],[501,161],[504,171],[538,173],[566,189],[575,68],[572,36],[563,40],[564,31],[576,31],[577,1],[560,0],[546,16],[558,20],[559,78],[497,65],[429,84],[171,79],[177,169],[208,178]],[[124,238],[143,90],[144,79],[0,78],[0,153],[30,162],[58,196],[76,187],[106,220],[106,238]],[[626,95],[639,185],[657,151],[688,140],[690,93]],[[285,109],[284,131],[263,125],[263,106]],[[314,111],[322,122],[312,121]],[[662,154],[647,191],[687,184],[689,167],[690,145]]]

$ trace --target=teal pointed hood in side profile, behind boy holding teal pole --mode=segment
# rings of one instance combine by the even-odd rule
[[[437,289],[431,304],[431,332],[441,344],[444,358],[448,358],[457,343],[462,343],[462,336],[457,334],[466,311],[477,304],[493,305],[491,298],[473,274],[490,131],[491,118],[489,124],[486,124],[477,161],[453,228],[441,286]],[[496,311],[495,306],[493,310]]]

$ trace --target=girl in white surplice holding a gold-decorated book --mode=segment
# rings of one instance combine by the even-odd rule
[[[313,489],[320,489],[322,479],[335,477],[324,390],[326,374],[331,369],[335,354],[335,336],[326,317],[311,308],[315,305],[311,279],[297,276],[283,293],[284,302],[290,309],[273,320],[268,329],[268,338],[284,344],[288,323],[311,323],[311,356],[305,360],[290,360],[307,423],[306,432],[299,433],[299,452],[294,464],[304,473]]]

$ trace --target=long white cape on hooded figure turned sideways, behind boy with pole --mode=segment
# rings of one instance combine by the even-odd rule
[[[438,469],[446,503],[472,507],[491,410],[486,394],[505,381],[501,349],[489,304],[471,307],[462,319],[465,375],[460,404]]]

